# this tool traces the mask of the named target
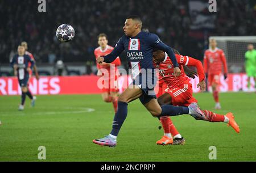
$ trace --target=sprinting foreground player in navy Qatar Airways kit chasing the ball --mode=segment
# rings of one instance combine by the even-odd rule
[[[166,52],[174,64],[173,75],[177,77],[181,72],[175,54],[172,48],[164,44],[157,35],[142,31],[142,21],[138,16],[129,16],[126,19],[123,32],[125,32],[125,35],[119,39],[114,50],[107,56],[98,57],[97,62],[99,64],[113,62],[125,50],[133,83],[118,98],[118,110],[114,116],[111,133],[99,140],[93,140],[94,144],[117,145],[117,135],[127,116],[127,105],[138,98],[154,117],[181,114],[203,116],[203,112],[196,104],[191,104],[189,107],[175,107],[170,104],[159,106],[154,92],[157,77],[152,63],[152,52],[154,48]]]

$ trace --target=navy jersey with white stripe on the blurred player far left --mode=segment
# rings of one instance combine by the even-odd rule
[[[28,62],[31,62],[30,67],[32,69],[35,62],[27,54],[24,54],[23,56],[19,56],[18,54],[15,54],[15,56],[11,60],[11,67],[13,67],[14,65],[18,66],[17,71],[18,71],[18,78],[19,79],[24,79],[24,78],[28,77],[28,75],[29,75],[28,71],[27,71]]]

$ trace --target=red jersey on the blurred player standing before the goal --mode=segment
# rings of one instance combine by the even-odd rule
[[[215,50],[207,49],[204,53],[204,71],[208,74],[222,73],[222,65],[224,73],[228,73],[226,66],[226,57],[223,50],[216,48]]]

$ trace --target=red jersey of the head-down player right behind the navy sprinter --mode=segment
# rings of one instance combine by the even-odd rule
[[[159,65],[154,64],[154,66],[159,69],[159,81],[163,80],[164,82],[166,82],[168,85],[167,87],[170,89],[188,83],[190,79],[185,75],[183,65],[196,66],[199,80],[204,80],[204,69],[203,65],[199,60],[179,54],[175,54],[175,56],[179,64],[181,74],[179,75],[179,77],[174,76],[174,65],[172,64],[171,59],[166,54],[166,58],[163,62],[161,62]]]

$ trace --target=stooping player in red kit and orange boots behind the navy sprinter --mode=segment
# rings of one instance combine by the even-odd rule
[[[200,81],[197,87],[200,87],[201,91],[205,91],[206,85],[204,81],[203,65],[199,60],[192,57],[182,56],[180,54],[175,54],[175,56],[181,70],[181,75],[179,75],[179,77],[174,77],[172,62],[165,52],[156,50],[153,53],[154,65],[159,69],[159,80],[167,86],[165,90],[164,88],[160,89],[164,90],[165,93],[158,98],[158,102],[160,105],[172,104],[174,106],[189,106],[191,103],[197,103],[197,100],[193,98],[192,84],[189,83],[190,79],[185,75],[183,66],[196,67]],[[228,125],[231,125],[237,133],[240,132],[240,128],[234,120],[233,113],[229,112],[226,115],[218,115],[217,113],[207,110],[203,110],[203,113],[204,116],[201,116],[200,118],[195,117],[195,119],[210,122],[225,122],[228,123]],[[170,117],[162,116],[160,122],[164,129],[164,136],[161,140],[157,141],[156,144],[184,144],[184,138],[172,124]]]

